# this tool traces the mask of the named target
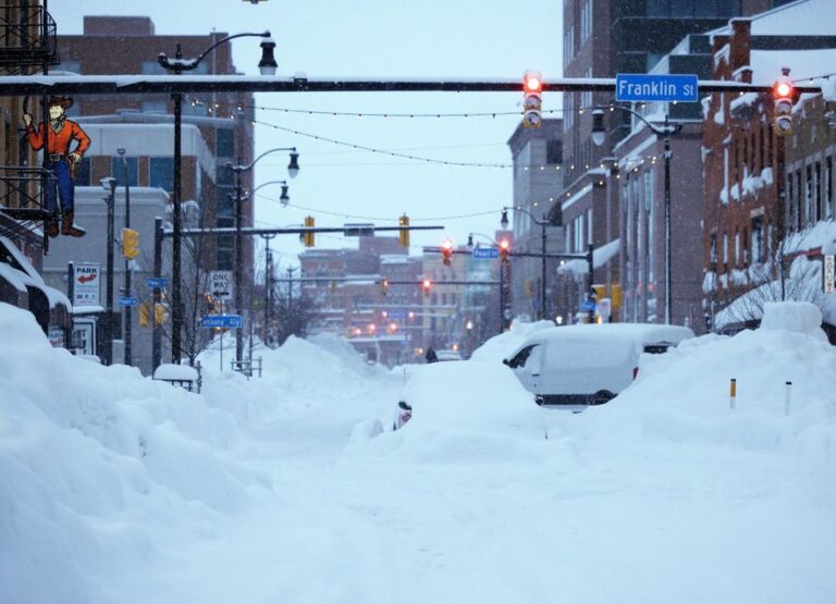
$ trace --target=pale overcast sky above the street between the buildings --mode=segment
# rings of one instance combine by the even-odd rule
[[[267,0],[51,0],[58,33],[81,34],[85,14],[147,15],[160,35],[237,34],[268,28],[276,41],[279,74],[383,77],[519,77],[528,69],[543,76],[562,73],[563,3],[545,0],[422,0],[420,2]],[[234,40],[238,71],[256,74],[259,40]],[[155,49],[157,50],[157,49]],[[60,49],[59,49],[60,51]],[[119,49],[108,49],[118,52]],[[173,48],[159,51],[173,54]],[[496,118],[398,119],[309,115],[275,109],[348,113],[475,113],[518,111],[520,94],[509,93],[294,93],[259,94],[266,124],[365,147],[443,161],[509,163],[508,137],[518,115]],[[558,109],[545,95],[543,109]],[[344,222],[395,225],[406,212],[413,224],[441,224],[444,232],[413,234],[411,254],[450,237],[464,244],[469,232],[492,234],[500,209],[512,201],[511,169],[463,168],[409,161],[256,126],[256,152],[296,146],[300,172],[291,182],[291,206],[282,208],[279,186],[256,194],[257,225],[317,226]],[[256,185],[286,178],[286,153],[256,165]],[[484,213],[471,218],[468,214]],[[317,247],[351,247],[356,239],[317,236]],[[261,241],[259,241],[259,247]],[[276,237],[281,266],[304,249],[296,237]]]

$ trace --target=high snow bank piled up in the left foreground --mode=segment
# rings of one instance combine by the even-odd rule
[[[85,602],[90,568],[124,569],[153,551],[150,527],[233,513],[259,483],[224,453],[226,414],[136,369],[52,348],[7,304],[0,392],[0,602]]]

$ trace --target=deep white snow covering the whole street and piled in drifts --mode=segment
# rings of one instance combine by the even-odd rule
[[[0,304],[0,602],[833,602],[814,315],[767,305],[765,329],[643,355],[570,414],[494,362],[545,321],[393,371],[335,338],[260,350],[262,379],[211,350],[197,395]]]

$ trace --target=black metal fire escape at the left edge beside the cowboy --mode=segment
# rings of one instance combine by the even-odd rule
[[[46,5],[37,0],[0,5],[0,74],[46,74],[50,65],[59,62],[56,22]],[[38,227],[48,215],[47,187],[54,183],[44,168],[28,165],[29,147],[22,116],[30,112],[30,100],[24,97],[16,106],[19,111],[7,116],[5,136],[15,139],[0,140],[0,235],[42,245],[46,252],[49,241],[38,233]],[[36,122],[47,123],[46,104],[40,103],[40,118],[33,116]]]

